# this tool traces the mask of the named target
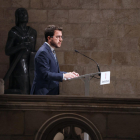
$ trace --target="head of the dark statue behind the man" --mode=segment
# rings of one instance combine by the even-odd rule
[[[28,23],[28,13],[25,8],[18,8],[15,12],[15,22],[18,26],[20,23]]]

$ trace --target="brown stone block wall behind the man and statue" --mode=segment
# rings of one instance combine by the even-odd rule
[[[0,78],[9,66],[4,48],[19,7],[28,10],[28,25],[37,30],[36,49],[44,42],[48,24],[63,27],[64,41],[57,51],[62,71],[97,72],[96,64],[76,54],[75,49],[96,60],[101,71],[111,71],[109,85],[91,80],[90,96],[140,97],[139,0],[1,0]],[[84,83],[66,81],[60,91],[61,95],[84,95]]]

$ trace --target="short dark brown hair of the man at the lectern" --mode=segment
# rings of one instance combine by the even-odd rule
[[[45,40],[46,42],[48,42],[48,36],[52,37],[54,35],[54,31],[55,30],[59,30],[62,31],[62,27],[59,26],[55,26],[55,25],[49,25],[45,31],[44,31],[44,35],[45,35]]]

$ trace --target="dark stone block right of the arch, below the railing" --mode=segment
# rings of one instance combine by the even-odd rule
[[[108,115],[108,137],[138,138],[140,129],[139,115]],[[133,119],[132,119],[133,118]],[[137,125],[136,125],[137,124]]]

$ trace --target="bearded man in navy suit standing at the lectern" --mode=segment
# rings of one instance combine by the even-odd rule
[[[75,72],[61,72],[59,69],[55,48],[60,48],[62,28],[49,25],[45,29],[46,42],[39,48],[35,56],[35,77],[31,95],[58,95],[59,82],[63,79],[79,76]]]

